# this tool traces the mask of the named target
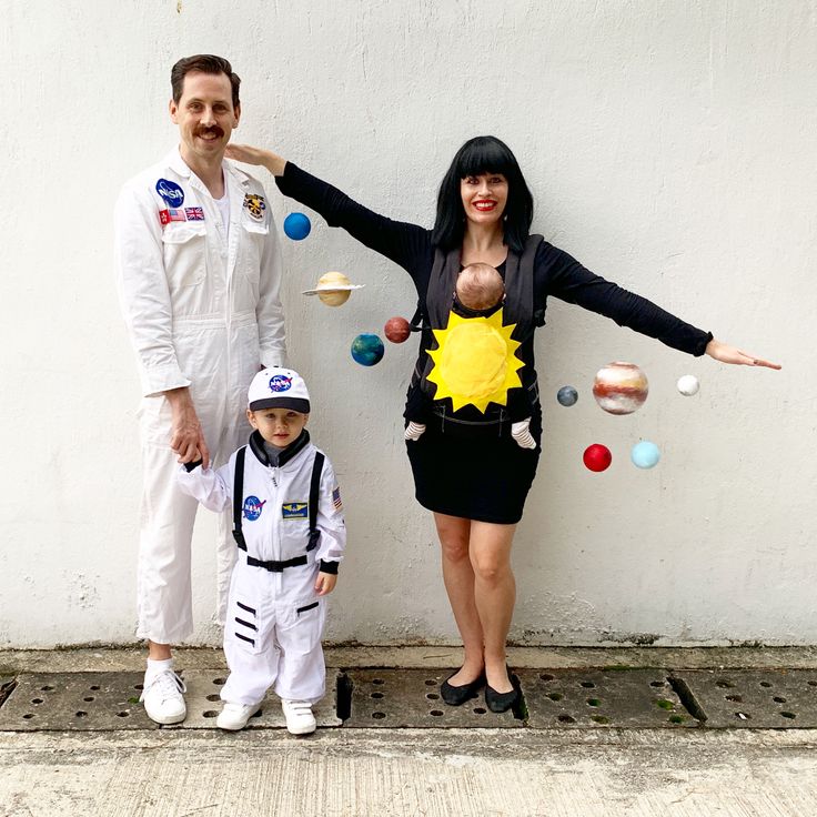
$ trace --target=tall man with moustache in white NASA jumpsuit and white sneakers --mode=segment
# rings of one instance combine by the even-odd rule
[[[138,635],[148,639],[143,700],[161,724],[184,719],[171,645],[193,632],[190,544],[198,503],[175,485],[196,451],[223,463],[245,442],[246,389],[285,359],[281,258],[261,183],[224,161],[241,114],[240,79],[209,54],[171,72],[180,144],[129,181],[115,208],[122,311],[137,353],[143,495]],[[234,558],[219,524],[219,586]]]

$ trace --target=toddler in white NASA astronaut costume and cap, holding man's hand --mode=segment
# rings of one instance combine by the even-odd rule
[[[310,397],[289,369],[264,369],[250,385],[248,445],[218,471],[179,470],[181,490],[211,511],[233,510],[240,548],[224,626],[230,676],[222,729],[242,729],[274,685],[295,735],[315,729],[312,705],[326,686],[324,599],[346,544],[332,464],[305,430]]]

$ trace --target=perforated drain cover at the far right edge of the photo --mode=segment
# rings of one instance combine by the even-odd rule
[[[713,728],[817,727],[817,670],[690,669],[673,673]]]

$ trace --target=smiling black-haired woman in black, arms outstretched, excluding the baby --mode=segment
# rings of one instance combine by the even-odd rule
[[[533,334],[544,324],[547,296],[576,303],[689,354],[779,366],[714,340],[594,275],[542,236],[529,235],[533,199],[513,153],[494,137],[472,139],[454,157],[440,188],[433,230],[379,215],[270,151],[230,145],[226,155],[263,164],[284,195],[408,272],[423,316],[410,400],[416,389],[433,392],[425,379],[433,367],[427,352],[436,347],[432,329],[446,326],[458,271],[484,262],[503,274],[507,293],[503,325],[515,324],[513,339],[521,342],[516,356],[524,362],[522,387],[534,404],[531,433],[536,448],[514,442],[503,406],[491,403],[478,411],[465,405],[453,411],[447,399],[435,402],[434,422],[406,447],[417,500],[434,513],[445,588],[464,646],[462,667],[442,686],[443,700],[463,704],[485,686],[493,712],[511,708],[518,696],[505,657],[515,602],[511,545],[541,452]]]

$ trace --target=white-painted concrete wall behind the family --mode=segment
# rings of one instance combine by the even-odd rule
[[[460,144],[495,133],[535,228],[588,268],[780,373],[692,359],[552,302],[537,337],[546,446],[520,526],[524,644],[817,639],[814,581],[817,6],[644,0],[2,0],[0,646],[134,632],[138,383],[112,274],[121,183],[174,143],[169,72],[196,52],[243,79],[239,141],[430,225]],[[279,223],[288,202],[266,180]],[[413,344],[362,369],[360,331],[410,316],[391,263],[315,219],[285,245],[291,361],[342,480],[349,557],[332,641],[452,643],[428,514],[401,440]],[[340,310],[300,291],[327,270]],[[650,396],[593,402],[632,360]],[[700,377],[697,397],[674,384]],[[556,390],[581,391],[563,408]],[[660,465],[628,462],[639,436]],[[592,442],[611,470],[585,471]],[[196,643],[218,643],[212,521],[195,542]]]

